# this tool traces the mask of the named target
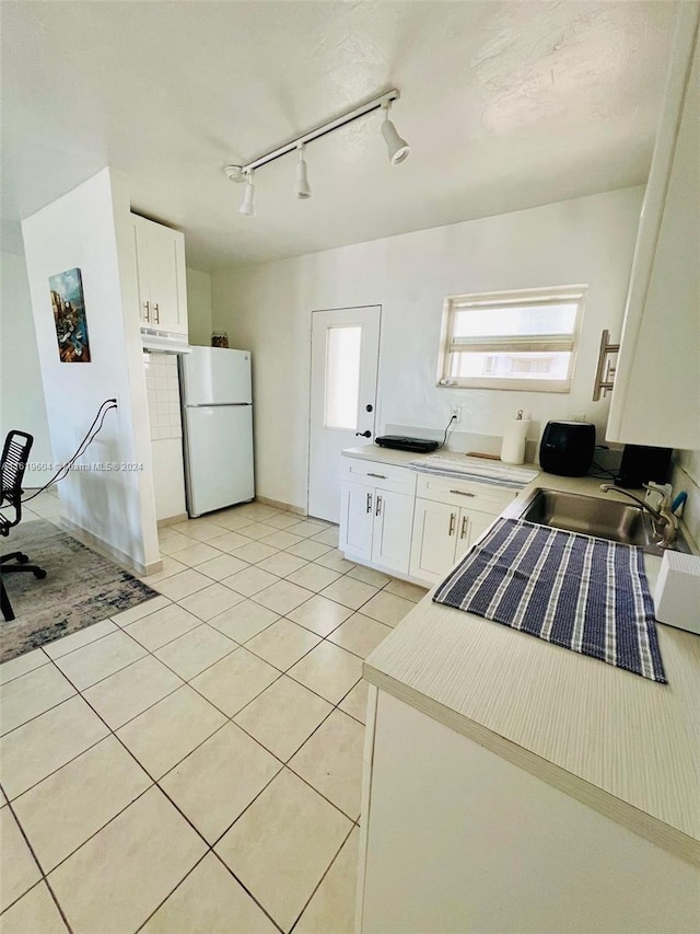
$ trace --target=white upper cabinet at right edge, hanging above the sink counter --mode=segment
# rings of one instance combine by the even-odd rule
[[[699,7],[681,3],[679,8],[606,437],[699,449]]]

